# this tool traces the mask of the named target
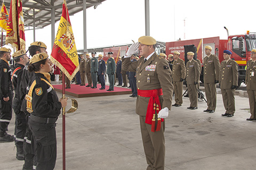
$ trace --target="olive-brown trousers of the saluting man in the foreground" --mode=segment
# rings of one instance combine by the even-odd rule
[[[165,159],[165,121],[162,122],[160,131],[151,132],[151,125],[145,123],[145,120],[146,116],[140,116],[141,137],[148,164],[147,170],[163,170]]]

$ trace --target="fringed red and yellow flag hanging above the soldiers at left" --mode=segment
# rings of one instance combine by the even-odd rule
[[[11,44],[17,50],[26,47],[22,1],[11,0],[10,15],[6,30],[6,44]]]

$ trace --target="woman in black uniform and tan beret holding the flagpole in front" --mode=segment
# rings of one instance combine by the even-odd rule
[[[46,53],[34,55],[28,70],[35,75],[29,82],[26,96],[27,111],[30,113],[28,125],[35,137],[37,165],[36,169],[51,170],[57,157],[55,122],[61,107],[67,106],[67,98],[58,100],[50,83],[51,65]]]

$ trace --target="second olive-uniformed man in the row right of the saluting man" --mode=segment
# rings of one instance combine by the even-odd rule
[[[195,53],[188,52],[188,62],[186,65],[186,81],[188,86],[188,96],[190,100],[190,106],[188,109],[197,109],[197,101],[198,101],[198,92],[197,92],[197,84],[199,82],[199,64],[197,61],[193,59]],[[176,95],[176,94],[175,94]]]

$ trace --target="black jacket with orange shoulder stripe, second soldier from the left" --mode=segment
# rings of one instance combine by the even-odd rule
[[[18,63],[14,67],[14,71],[15,70],[17,71],[12,73],[12,84],[15,91],[13,104],[14,104],[14,101],[16,102],[14,105],[21,105],[22,103],[22,100],[20,100],[20,86],[21,86],[20,82],[22,78],[23,69],[24,69],[24,65]]]

